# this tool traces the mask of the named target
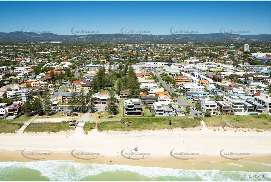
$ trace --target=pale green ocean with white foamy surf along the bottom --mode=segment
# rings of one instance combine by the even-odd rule
[[[187,170],[51,160],[0,162],[1,181],[270,181],[270,164],[235,161],[192,163],[218,168]],[[227,171],[223,171],[227,169]],[[228,171],[230,169],[230,171]],[[254,171],[254,172],[253,172]],[[258,175],[253,177],[254,175]],[[250,178],[248,178],[250,176]]]

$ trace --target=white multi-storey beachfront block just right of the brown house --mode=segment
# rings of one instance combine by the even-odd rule
[[[244,103],[242,100],[239,100],[239,97],[235,95],[228,95],[223,97],[223,101],[231,106],[231,112],[237,112],[235,115],[240,112],[244,112]]]

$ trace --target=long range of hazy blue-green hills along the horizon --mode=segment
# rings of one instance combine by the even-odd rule
[[[24,32],[25,33],[25,32]],[[89,43],[89,42],[270,42],[270,34],[259,35],[243,35],[239,38],[226,37],[220,33],[217,34],[177,34],[187,38],[177,37],[175,35],[143,35],[143,37],[127,37],[124,34],[90,34],[83,36],[91,37],[78,37],[76,35],[58,35],[52,33],[25,33],[29,36],[44,36],[44,37],[29,37],[22,32],[0,32],[0,41],[3,42],[24,42],[28,40],[30,42],[36,41],[61,41],[61,42],[77,42],[77,43]],[[129,34],[132,36],[138,36],[138,34]],[[227,34],[229,36],[238,37],[240,34]],[[188,37],[192,36],[192,37]]]

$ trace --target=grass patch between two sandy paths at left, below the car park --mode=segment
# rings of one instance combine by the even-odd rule
[[[41,128],[33,128],[33,127]],[[56,132],[56,131],[68,131],[73,130],[74,127],[71,127],[69,123],[30,123],[24,129],[24,132]]]

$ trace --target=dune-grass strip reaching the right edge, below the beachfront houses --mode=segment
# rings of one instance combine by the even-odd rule
[[[258,128],[270,130],[270,115],[219,115],[204,117],[207,126],[226,126],[242,127],[242,128]]]

